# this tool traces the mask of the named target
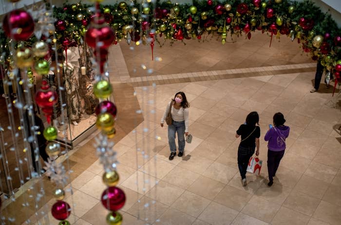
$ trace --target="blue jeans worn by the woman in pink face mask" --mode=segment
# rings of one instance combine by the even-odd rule
[[[174,153],[176,152],[175,132],[178,133],[179,152],[183,152],[185,149],[185,121],[171,121],[171,125],[168,125],[168,143],[170,152]]]

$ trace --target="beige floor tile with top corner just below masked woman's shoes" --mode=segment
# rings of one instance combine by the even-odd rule
[[[186,190],[199,176],[198,173],[175,166],[162,180]]]

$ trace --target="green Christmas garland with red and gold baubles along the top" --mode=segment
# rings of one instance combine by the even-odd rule
[[[76,46],[82,41],[94,19],[91,7],[79,2],[53,8],[58,48]],[[200,41],[203,35],[210,34],[220,35],[225,44],[227,35],[246,35],[251,39],[251,32],[258,30],[271,36],[270,45],[273,36],[296,39],[304,52],[321,60],[327,69],[335,70],[336,78],[340,77],[341,30],[329,13],[322,13],[310,0],[193,0],[191,5],[159,0],[143,4],[122,1],[99,7],[114,30],[113,44],[125,38],[129,43],[153,46],[154,41],[162,40]],[[8,40],[2,31],[0,38],[2,49],[6,50]],[[35,41],[33,37],[25,44],[32,46]],[[1,55],[1,62],[4,57]]]

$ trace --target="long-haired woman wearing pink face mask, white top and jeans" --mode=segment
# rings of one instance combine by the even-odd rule
[[[185,137],[188,136],[188,123],[189,123],[189,102],[184,92],[179,91],[175,94],[174,99],[166,107],[165,114],[161,119],[161,127],[168,115],[171,106],[171,124],[168,125],[168,143],[170,144],[170,157],[169,160],[173,160],[176,155],[176,145],[175,145],[175,132],[178,133],[178,156],[181,157],[184,154],[185,149]]]

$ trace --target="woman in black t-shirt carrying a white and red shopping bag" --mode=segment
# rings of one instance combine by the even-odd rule
[[[246,169],[250,157],[257,147],[256,156],[259,155],[259,137],[261,129],[259,126],[259,115],[257,112],[250,112],[246,117],[246,122],[238,128],[236,138],[242,136],[238,147],[238,168],[242,177],[242,184],[246,186]]]

